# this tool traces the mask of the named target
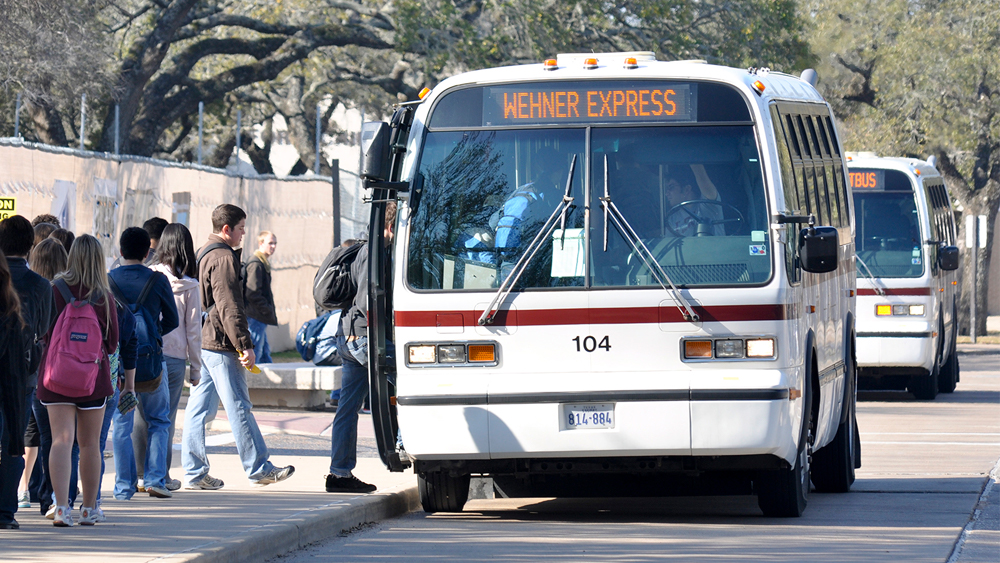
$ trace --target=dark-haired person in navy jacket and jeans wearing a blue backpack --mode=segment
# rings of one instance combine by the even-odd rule
[[[108,273],[109,281],[120,290],[118,296],[128,304],[135,304],[139,301],[146,283],[152,280],[152,289],[142,302],[141,308],[148,312],[146,318],[157,319],[158,323],[150,330],[155,331],[152,335],[157,340],[157,345],[161,342],[162,335],[175,328],[179,323],[177,317],[177,305],[174,303],[174,293],[170,288],[170,282],[166,276],[159,272],[154,272],[143,265],[149,253],[149,233],[139,227],[129,227],[122,232],[119,239],[122,254],[122,266],[115,268]],[[136,315],[141,314],[136,310]],[[140,346],[142,345],[141,336]],[[136,392],[139,399],[138,409],[148,425],[149,443],[146,447],[145,468],[143,471],[143,482],[145,490],[149,496],[156,498],[170,498],[173,494],[166,487],[167,476],[167,452],[171,447],[170,438],[170,389],[165,377],[166,368],[162,359],[158,365],[159,373],[154,374],[153,379],[136,382]],[[136,373],[136,377],[141,374]],[[112,413],[114,430],[112,432],[112,444],[115,449],[115,490],[114,495],[118,500],[128,500],[132,498],[138,490],[138,475],[136,474],[135,458],[132,444],[132,426],[134,423],[135,411],[121,414],[116,409]]]

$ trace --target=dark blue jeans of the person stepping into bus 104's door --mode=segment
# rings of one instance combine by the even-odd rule
[[[358,409],[368,396],[368,337],[348,342],[338,334],[337,350],[343,363],[340,400],[330,434],[330,473],[350,477],[358,464]]]

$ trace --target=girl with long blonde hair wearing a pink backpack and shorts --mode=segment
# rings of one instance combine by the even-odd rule
[[[74,525],[70,512],[70,452],[80,446],[83,502],[79,523],[99,521],[99,438],[104,404],[114,392],[108,356],[118,344],[118,316],[108,288],[104,250],[90,235],[73,241],[68,269],[52,284],[58,319],[46,335],[37,395],[52,427],[49,474],[56,496],[53,524]]]

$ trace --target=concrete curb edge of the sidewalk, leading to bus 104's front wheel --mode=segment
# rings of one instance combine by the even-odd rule
[[[420,506],[417,487],[353,497],[303,510],[278,522],[155,559],[164,563],[255,563],[285,555],[362,524],[402,516]]]

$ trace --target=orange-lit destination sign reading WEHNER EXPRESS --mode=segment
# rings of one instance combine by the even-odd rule
[[[697,121],[697,84],[533,83],[483,88],[483,126]]]

